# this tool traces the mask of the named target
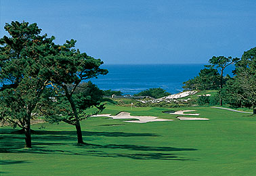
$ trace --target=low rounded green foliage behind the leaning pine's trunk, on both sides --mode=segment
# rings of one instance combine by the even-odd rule
[[[73,116],[70,102],[64,93],[63,95],[60,94],[60,92],[56,93],[56,90],[52,87],[45,89],[39,106],[41,115],[49,123],[64,121],[74,125],[76,118]],[[102,111],[104,109],[102,104],[104,102],[102,90],[97,85],[92,84],[91,81],[79,84],[76,91],[74,91],[73,99],[74,106],[80,117],[79,120],[88,118],[91,114],[98,113],[98,110]],[[93,107],[98,108],[98,110],[94,109],[90,113],[87,113],[87,110]]]

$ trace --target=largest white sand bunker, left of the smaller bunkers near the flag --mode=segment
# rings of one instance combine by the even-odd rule
[[[137,120],[127,120],[125,123],[149,123],[149,122],[163,122],[171,121],[169,119],[158,118],[157,116],[131,116],[129,112],[120,112],[116,116],[111,116],[111,114],[97,114],[94,116],[107,116],[113,119],[131,119],[135,118]]]

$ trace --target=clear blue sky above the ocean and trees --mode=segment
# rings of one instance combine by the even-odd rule
[[[255,0],[0,0],[0,37],[13,20],[106,64],[200,64],[256,47]]]

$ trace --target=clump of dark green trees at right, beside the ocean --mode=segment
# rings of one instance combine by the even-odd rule
[[[224,76],[223,71],[234,64],[234,76]],[[218,90],[219,105],[223,102],[233,107],[253,108],[256,114],[256,47],[244,51],[241,58],[213,56],[209,65],[198,76],[184,82],[187,90]],[[206,102],[207,97],[201,97]]]

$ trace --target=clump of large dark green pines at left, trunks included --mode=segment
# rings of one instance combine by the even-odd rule
[[[104,106],[100,105],[102,91],[81,81],[106,74],[108,70],[100,68],[103,62],[75,49],[73,39],[56,45],[54,37],[40,35],[35,23],[12,22],[5,30],[9,37],[0,39],[0,119],[24,129],[25,146],[31,148],[30,119],[43,112],[43,101],[48,101],[51,111],[49,102],[57,100],[63,108],[58,110],[69,112],[63,121],[75,125],[78,142],[83,143],[79,121],[85,118],[79,110],[91,106],[102,110]],[[78,93],[79,85],[83,91]]]

